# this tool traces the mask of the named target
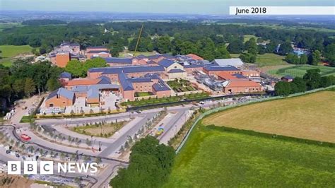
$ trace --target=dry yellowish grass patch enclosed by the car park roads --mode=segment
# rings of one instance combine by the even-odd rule
[[[113,123],[107,123],[104,125],[101,124],[86,124],[85,126],[81,127],[73,127],[70,128],[71,131],[75,131],[79,134],[86,134],[88,136],[100,136],[100,137],[110,137],[112,136],[116,131],[124,127],[125,124],[127,124],[127,121],[123,122],[113,122]]]

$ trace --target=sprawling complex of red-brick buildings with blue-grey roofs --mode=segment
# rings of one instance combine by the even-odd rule
[[[97,57],[105,59],[109,66],[89,69],[86,78],[72,78],[71,74],[64,72],[59,77],[62,87],[49,94],[44,102],[45,108],[66,108],[77,103],[84,107],[114,108],[119,102],[144,98],[138,93],[148,93],[150,98],[192,93],[173,90],[167,83],[178,79],[189,81],[196,88],[194,92],[211,95],[264,90],[259,71],[247,69],[238,58],[207,61],[196,54],[119,58],[112,57],[105,47],[80,50],[78,44],[71,43],[61,44],[51,56],[54,58],[52,63],[61,67],[71,59],[85,61]]]

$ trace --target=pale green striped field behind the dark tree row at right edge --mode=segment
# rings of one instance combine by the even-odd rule
[[[329,76],[329,75],[334,75],[335,74],[335,68],[334,67],[329,67],[329,66],[312,66],[312,65],[297,65],[297,66],[290,66],[287,68],[282,68],[282,69],[274,69],[268,71],[269,74],[272,74],[274,76],[286,76],[290,75],[293,77],[302,77],[305,75],[307,70],[310,69],[320,69],[321,75],[322,76]]]

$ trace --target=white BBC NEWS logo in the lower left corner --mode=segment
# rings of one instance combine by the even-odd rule
[[[20,161],[8,161],[8,175],[20,175],[22,166]],[[61,173],[95,173],[98,172],[97,163],[57,163],[57,172]],[[40,161],[40,174],[53,175],[54,174],[53,161]],[[23,174],[24,175],[37,175],[37,161],[24,161]]]

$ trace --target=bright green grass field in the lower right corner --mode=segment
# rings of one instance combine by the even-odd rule
[[[197,125],[163,187],[333,187],[335,148]]]

